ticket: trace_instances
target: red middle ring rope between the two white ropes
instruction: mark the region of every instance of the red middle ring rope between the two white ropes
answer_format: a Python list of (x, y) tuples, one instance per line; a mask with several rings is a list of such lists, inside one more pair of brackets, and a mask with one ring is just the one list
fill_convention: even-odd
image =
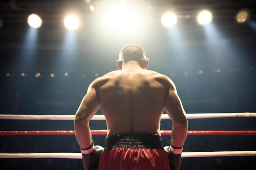
[[(91, 130), (92, 135), (107, 135), (107, 130)], [(161, 135), (170, 135), (171, 130), (161, 130)], [(74, 130), (0, 131), (1, 135), (74, 135)], [(256, 135), (256, 130), (190, 130), (187, 135)]]

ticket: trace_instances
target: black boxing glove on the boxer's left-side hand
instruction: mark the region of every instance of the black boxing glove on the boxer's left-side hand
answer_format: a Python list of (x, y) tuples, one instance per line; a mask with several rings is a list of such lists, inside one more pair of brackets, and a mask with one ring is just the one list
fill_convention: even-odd
[(90, 152), (89, 154), (82, 153), (83, 168), (85, 168), (85, 170), (98, 170), (99, 159), (101, 157), (101, 153), (103, 152), (103, 150), (103, 147), (96, 145), (94, 146), (92, 152)]

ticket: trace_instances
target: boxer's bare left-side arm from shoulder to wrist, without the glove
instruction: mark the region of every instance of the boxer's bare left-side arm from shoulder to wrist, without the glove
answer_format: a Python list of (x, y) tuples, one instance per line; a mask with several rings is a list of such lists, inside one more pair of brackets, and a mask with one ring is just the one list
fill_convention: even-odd
[(89, 148), (92, 144), (89, 121), (100, 107), (94, 82), (90, 84), (87, 94), (83, 97), (74, 119), (76, 140), (81, 148)]

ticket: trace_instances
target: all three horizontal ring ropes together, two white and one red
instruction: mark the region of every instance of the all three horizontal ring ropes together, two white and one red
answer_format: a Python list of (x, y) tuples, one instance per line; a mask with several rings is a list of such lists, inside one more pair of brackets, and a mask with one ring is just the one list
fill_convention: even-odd
[[(188, 119), (210, 119), (224, 117), (256, 117), (256, 113), (191, 113)], [(0, 115), (0, 119), (16, 120), (74, 120), (74, 115)], [(170, 119), (163, 114), (162, 119)], [(94, 115), (91, 120), (106, 120), (104, 115)], [(107, 130), (91, 130), (92, 135), (106, 135)], [(49, 131), (0, 131), (0, 135), (74, 135), (74, 130)], [(170, 135), (171, 130), (161, 130), (161, 135)], [(187, 135), (256, 135), (256, 130), (188, 130)], [(212, 152), (182, 152), (184, 157), (234, 157), (256, 156), (256, 150), (247, 151), (212, 151)], [(0, 153), (0, 158), (67, 158), (82, 159), (81, 153)]]

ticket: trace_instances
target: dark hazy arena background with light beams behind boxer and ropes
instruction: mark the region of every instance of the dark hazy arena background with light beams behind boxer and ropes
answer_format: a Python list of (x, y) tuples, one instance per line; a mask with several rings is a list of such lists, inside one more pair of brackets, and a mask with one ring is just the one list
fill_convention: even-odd
[[(210, 23), (197, 22), (201, 10), (212, 14)], [(174, 26), (164, 26), (166, 12), (176, 14)], [(30, 14), (41, 18), (40, 27), (29, 26)], [(70, 14), (78, 17), (77, 29), (64, 26)], [(1, 0), (0, 114), (74, 115), (89, 84), (117, 70), (127, 44), (144, 48), (148, 69), (173, 80), (186, 113), (256, 112), (255, 0)], [(106, 129), (106, 121), (90, 126)], [(161, 120), (161, 130), (171, 127), (171, 120)], [(0, 119), (0, 130), (74, 127), (72, 120)], [(256, 130), (256, 117), (189, 119), (189, 130)], [(105, 138), (93, 135), (94, 144), (103, 146)], [(170, 135), (162, 138), (167, 146)], [(183, 152), (245, 150), (256, 150), (255, 135), (188, 135)], [(74, 135), (0, 135), (0, 153), (50, 152), (80, 150)], [(189, 157), (182, 158), (180, 170), (256, 170), (255, 161)], [(1, 158), (0, 169), (83, 165), (81, 159)]]

